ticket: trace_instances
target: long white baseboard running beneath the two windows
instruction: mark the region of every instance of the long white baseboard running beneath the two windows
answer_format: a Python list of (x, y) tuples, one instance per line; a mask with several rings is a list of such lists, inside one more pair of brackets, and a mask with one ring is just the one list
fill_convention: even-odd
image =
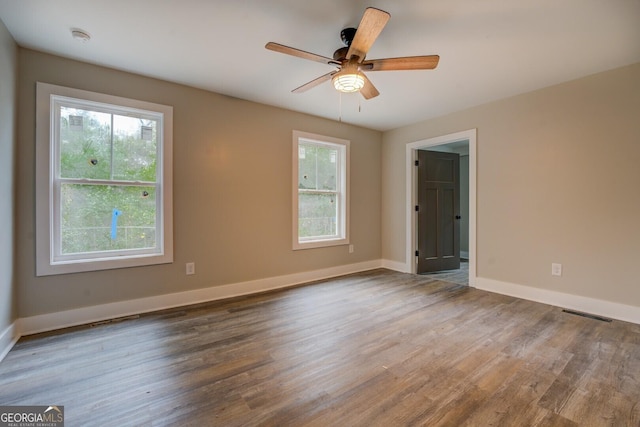
[(366, 261), (357, 264), (348, 264), (321, 270), (270, 277), (267, 279), (212, 286), (192, 291), (157, 295), (148, 298), (139, 298), (91, 307), (82, 307), (56, 313), (41, 314), (19, 319), (19, 334), (31, 335), (168, 308), (287, 288), (315, 280), (359, 273), (361, 271), (373, 270), (381, 267), (382, 262), (380, 260)]

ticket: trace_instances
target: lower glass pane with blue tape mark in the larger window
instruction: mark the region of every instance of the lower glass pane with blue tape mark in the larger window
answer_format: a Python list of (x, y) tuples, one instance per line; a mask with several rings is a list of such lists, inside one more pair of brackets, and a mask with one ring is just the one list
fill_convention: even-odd
[(62, 255), (154, 248), (155, 230), (155, 187), (62, 185)]

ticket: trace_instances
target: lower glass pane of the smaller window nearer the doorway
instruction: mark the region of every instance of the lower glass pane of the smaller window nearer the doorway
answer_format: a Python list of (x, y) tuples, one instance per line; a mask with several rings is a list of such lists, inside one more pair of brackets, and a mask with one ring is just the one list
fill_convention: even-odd
[(298, 196), (298, 238), (337, 237), (338, 202), (335, 194)]

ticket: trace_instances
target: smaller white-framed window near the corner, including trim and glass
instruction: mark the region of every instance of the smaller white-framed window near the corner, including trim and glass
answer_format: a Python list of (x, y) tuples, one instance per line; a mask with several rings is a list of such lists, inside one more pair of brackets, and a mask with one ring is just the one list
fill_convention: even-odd
[(293, 132), (293, 248), (349, 243), (349, 141)]

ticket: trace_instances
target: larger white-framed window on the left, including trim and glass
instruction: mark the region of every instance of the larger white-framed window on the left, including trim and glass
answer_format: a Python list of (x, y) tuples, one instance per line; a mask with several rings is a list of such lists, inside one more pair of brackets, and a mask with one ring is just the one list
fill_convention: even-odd
[(172, 108), (38, 83), (37, 110), (37, 274), (172, 262)]

